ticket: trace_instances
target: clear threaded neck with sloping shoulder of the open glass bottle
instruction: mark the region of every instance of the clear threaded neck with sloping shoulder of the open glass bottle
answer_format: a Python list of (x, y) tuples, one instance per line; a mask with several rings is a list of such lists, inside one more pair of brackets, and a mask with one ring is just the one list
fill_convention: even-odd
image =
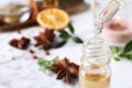
[(92, 37), (84, 44), (81, 66), (89, 69), (100, 69), (109, 66), (110, 48), (100, 37)]

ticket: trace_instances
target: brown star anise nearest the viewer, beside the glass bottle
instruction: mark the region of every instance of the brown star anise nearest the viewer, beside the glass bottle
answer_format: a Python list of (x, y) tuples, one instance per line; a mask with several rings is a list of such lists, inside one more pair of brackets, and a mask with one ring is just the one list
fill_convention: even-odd
[(67, 57), (63, 61), (56, 61), (50, 69), (57, 74), (57, 79), (64, 78), (67, 84), (72, 82), (72, 78), (78, 78), (79, 66), (70, 63)]

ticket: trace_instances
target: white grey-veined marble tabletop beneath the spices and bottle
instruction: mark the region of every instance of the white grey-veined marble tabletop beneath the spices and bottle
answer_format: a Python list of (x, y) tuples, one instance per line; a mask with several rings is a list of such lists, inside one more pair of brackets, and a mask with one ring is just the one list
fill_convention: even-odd
[[(86, 0), (86, 3), (89, 0)], [(72, 22), (76, 28), (76, 34), (81, 36), (84, 41), (92, 36), (92, 19), (90, 11), (72, 15)], [(32, 38), (37, 35), (43, 28), (35, 26), (16, 32), (0, 33), (0, 88), (79, 88), (79, 84), (66, 85), (55, 79), (55, 75), (48, 76), (38, 69), (37, 59), (32, 59), (29, 51), (21, 51), (9, 45), (9, 41), (13, 37), (26, 36)], [(33, 38), (32, 38), (33, 40)], [(32, 41), (34, 43), (34, 41)], [(34, 48), (35, 54), (40, 57), (51, 59), (59, 55), (68, 56), (73, 62), (79, 64), (81, 56), (81, 45), (72, 41), (66, 46), (52, 50), (50, 56), (45, 56), (43, 51)], [(12, 61), (15, 57), (15, 61)], [(112, 77), (111, 88), (132, 88), (132, 62), (111, 59)]]

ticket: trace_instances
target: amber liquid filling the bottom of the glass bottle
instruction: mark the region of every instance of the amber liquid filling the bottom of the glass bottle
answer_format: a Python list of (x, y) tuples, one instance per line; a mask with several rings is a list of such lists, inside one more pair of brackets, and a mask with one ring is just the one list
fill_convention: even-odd
[(110, 88), (110, 76), (106, 74), (79, 74), (80, 88)]

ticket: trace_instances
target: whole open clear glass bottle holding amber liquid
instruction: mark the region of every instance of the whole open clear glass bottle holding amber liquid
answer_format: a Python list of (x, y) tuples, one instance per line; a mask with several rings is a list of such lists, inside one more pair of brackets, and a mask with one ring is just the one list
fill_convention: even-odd
[(80, 59), (80, 88), (110, 88), (110, 48), (100, 37), (92, 37), (84, 44)]

